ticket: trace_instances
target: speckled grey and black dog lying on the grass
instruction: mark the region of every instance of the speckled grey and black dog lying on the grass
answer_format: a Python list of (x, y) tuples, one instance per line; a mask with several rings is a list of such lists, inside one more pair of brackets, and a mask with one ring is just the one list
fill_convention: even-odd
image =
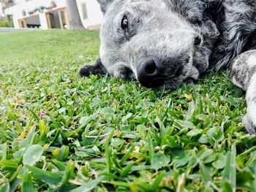
[[(256, 0), (97, 1), (104, 15), (100, 58), (80, 68), (82, 77), (108, 73), (173, 89), (256, 49)], [(245, 119), (255, 133), (255, 115)]]

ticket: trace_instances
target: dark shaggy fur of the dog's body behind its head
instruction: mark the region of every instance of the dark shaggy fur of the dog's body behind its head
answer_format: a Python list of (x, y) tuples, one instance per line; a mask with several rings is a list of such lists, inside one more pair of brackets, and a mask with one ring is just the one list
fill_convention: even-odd
[(225, 69), (236, 56), (256, 48), (256, 1), (225, 0), (222, 36), (211, 57), (210, 69)]

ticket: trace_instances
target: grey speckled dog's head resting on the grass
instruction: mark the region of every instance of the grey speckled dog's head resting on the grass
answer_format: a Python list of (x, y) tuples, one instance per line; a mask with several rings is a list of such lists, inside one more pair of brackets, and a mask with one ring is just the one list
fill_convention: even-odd
[[(96, 65), (83, 66), (82, 76), (108, 72), (114, 77), (136, 78), (146, 87), (176, 88), (181, 81), (197, 79), (198, 68), (207, 69), (209, 46), (217, 39), (217, 29), (211, 25), (209, 33), (200, 18), (189, 22), (189, 14), (192, 19), (203, 17), (199, 11), (182, 10), (191, 9), (191, 5), (179, 7), (178, 12), (178, 5), (165, 0), (98, 1), (104, 14), (101, 60)], [(200, 9), (196, 6), (196, 10)]]

